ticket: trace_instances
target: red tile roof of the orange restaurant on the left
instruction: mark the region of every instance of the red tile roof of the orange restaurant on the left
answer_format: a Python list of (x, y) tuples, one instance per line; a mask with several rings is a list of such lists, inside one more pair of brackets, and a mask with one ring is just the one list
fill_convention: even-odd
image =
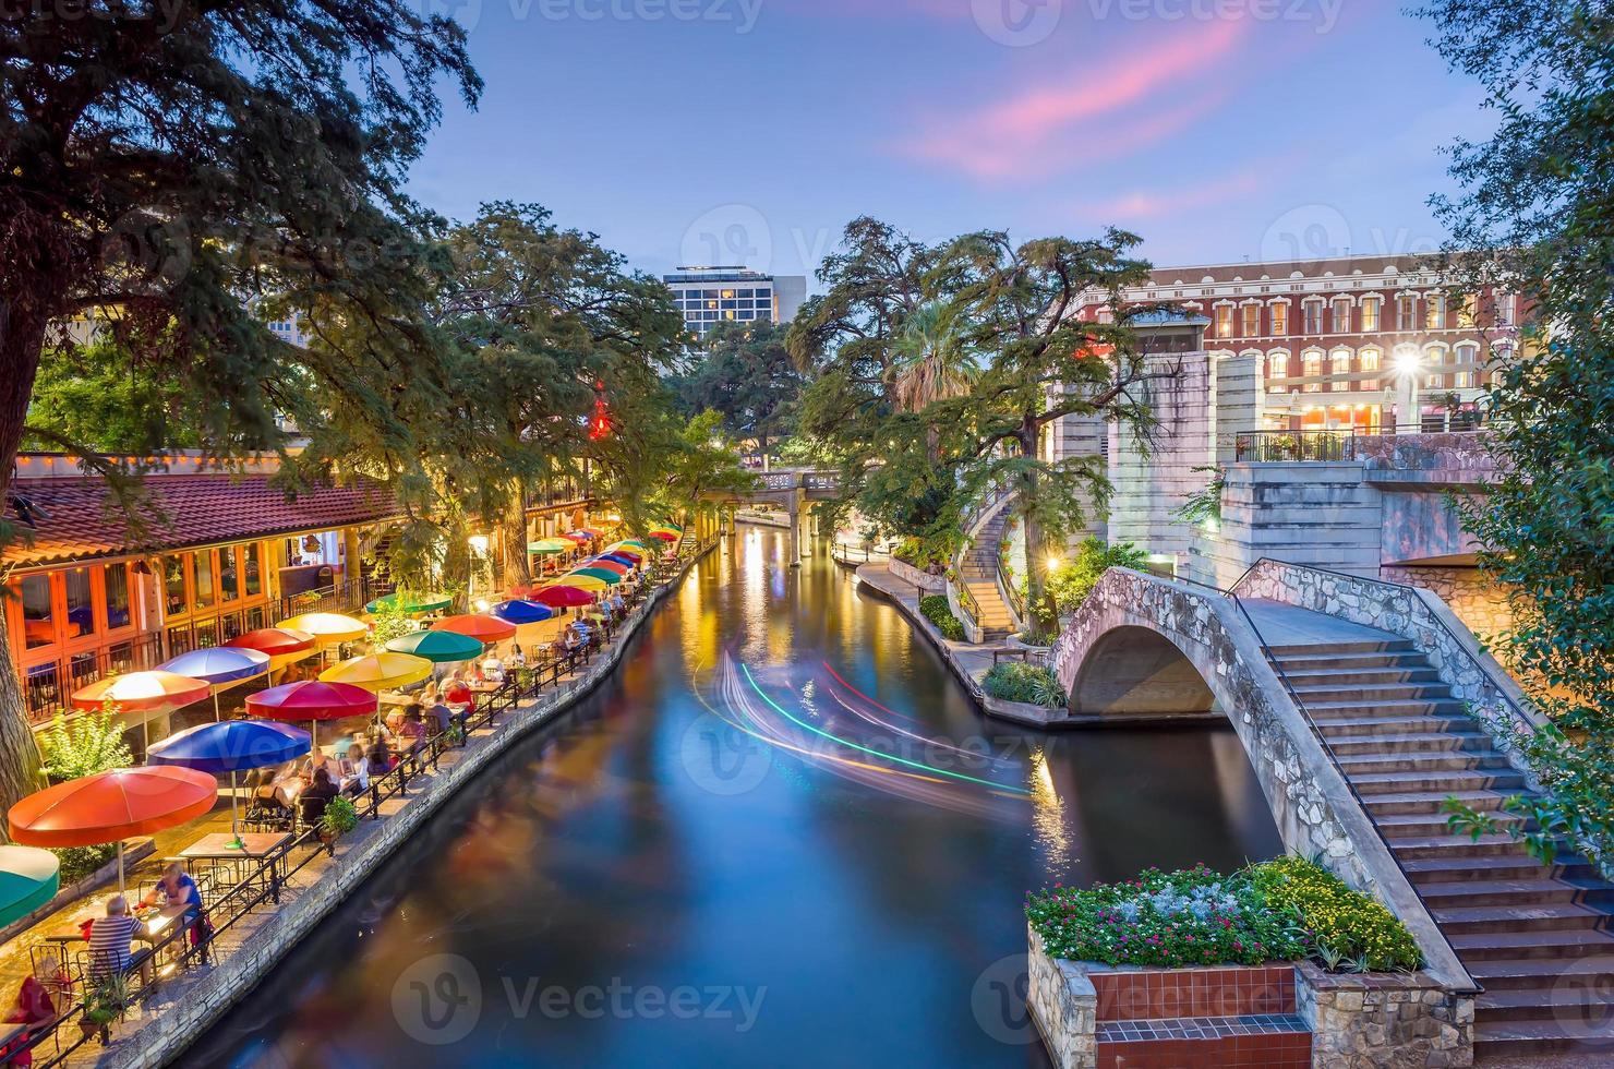
[(15, 567), (320, 531), (400, 515), (392, 496), (376, 483), (324, 486), (289, 499), (263, 473), (147, 476), (137, 505), (147, 526), (136, 533), (98, 478), (18, 480), (11, 493), (44, 512), (29, 528), (6, 501), (3, 517), (15, 531), (0, 560)]

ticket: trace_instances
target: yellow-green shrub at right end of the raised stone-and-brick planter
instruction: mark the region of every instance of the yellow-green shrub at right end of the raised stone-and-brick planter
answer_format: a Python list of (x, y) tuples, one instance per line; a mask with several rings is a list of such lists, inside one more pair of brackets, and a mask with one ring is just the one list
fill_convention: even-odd
[(1291, 912), (1312, 933), (1319, 953), (1359, 962), (1364, 970), (1411, 970), (1424, 956), (1406, 925), (1374, 898), (1304, 857), (1278, 857), (1252, 870), (1273, 909)]

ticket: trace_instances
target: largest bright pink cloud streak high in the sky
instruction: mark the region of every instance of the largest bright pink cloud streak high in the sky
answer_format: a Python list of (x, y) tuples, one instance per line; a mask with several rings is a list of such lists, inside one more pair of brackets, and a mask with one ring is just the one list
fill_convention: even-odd
[[(1206, 113), (1225, 92), (1198, 82), (1223, 61), (1246, 34), (1246, 19), (1194, 26), (1193, 32), (1157, 37), (1115, 60), (1056, 84), (1022, 89), (949, 119), (936, 119), (899, 147), (905, 155), (955, 168), (980, 179), (1046, 176), (1091, 158), (1115, 155), (1160, 140)], [(1193, 102), (1167, 111), (1144, 105), (1193, 89)], [(1080, 142), (1081, 149), (1072, 149)]]

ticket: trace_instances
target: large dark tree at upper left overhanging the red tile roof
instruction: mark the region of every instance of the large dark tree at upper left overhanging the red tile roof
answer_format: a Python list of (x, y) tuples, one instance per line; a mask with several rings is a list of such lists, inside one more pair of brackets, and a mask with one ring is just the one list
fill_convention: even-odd
[[(208, 452), (281, 447), (281, 413), (321, 444), (362, 425), (412, 451), (452, 381), (402, 194), (439, 86), (475, 103), (465, 36), (397, 0), (60, 0), (0, 19), (0, 491), (40, 354), (84, 318), (205, 402)], [(315, 344), (260, 318), (287, 312)], [(366, 344), (342, 344), (360, 321)], [(0, 806), (34, 769), (0, 633)]]

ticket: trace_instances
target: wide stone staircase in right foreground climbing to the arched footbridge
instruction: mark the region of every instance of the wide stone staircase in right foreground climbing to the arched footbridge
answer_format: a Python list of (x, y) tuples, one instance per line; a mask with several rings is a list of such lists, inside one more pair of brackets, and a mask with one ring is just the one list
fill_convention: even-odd
[(1257, 623), (1430, 916), (1485, 988), (1475, 1058), (1614, 1059), (1614, 885), (1567, 846), (1541, 866), (1507, 835), (1451, 833), (1440, 811), (1448, 796), (1517, 824), (1499, 807), (1528, 793), (1524, 777), (1411, 641), (1341, 625), (1349, 630), (1336, 641), (1290, 641), (1282, 623)]

